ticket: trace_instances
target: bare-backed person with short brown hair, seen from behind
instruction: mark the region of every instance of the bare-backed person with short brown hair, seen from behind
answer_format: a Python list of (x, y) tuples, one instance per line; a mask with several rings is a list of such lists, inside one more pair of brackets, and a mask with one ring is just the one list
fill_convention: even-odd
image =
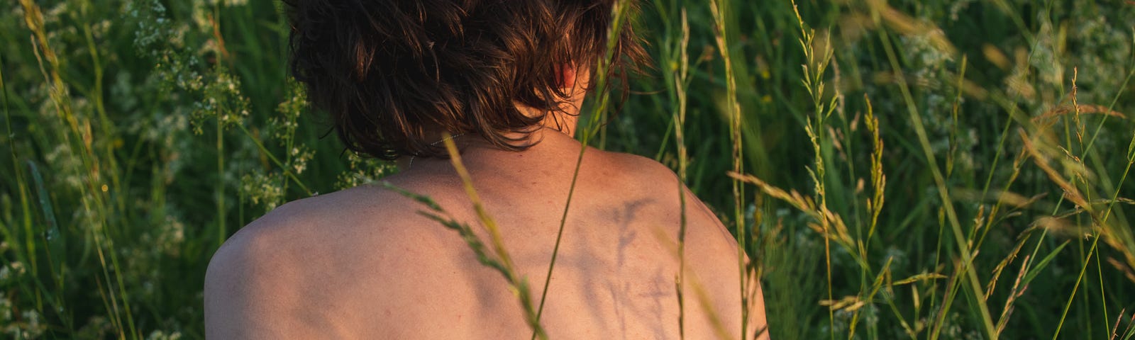
[[(350, 150), (398, 160), (390, 185), (431, 197), (487, 239), (442, 144), (454, 143), (538, 303), (582, 147), (575, 117), (592, 90), (590, 66), (608, 52), (612, 2), (293, 0), (292, 71)], [(614, 75), (644, 56), (624, 27), (611, 51)], [(741, 335), (735, 241), (669, 168), (588, 148), (578, 178), (540, 313), (549, 338)], [(680, 195), (684, 307), (674, 283)], [(531, 337), (501, 273), (421, 210), (362, 186), (252, 222), (210, 262), (207, 335)], [(764, 333), (751, 282), (746, 338)]]

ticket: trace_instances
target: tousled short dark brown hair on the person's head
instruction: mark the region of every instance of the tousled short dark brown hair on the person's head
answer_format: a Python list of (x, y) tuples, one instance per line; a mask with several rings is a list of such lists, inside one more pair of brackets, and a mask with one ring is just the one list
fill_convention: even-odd
[[(606, 54), (616, 0), (284, 1), (292, 75), (348, 150), (393, 160), (443, 155), (431, 130), (527, 148), (519, 142), (570, 95), (560, 68), (582, 74)], [(645, 60), (630, 26), (611, 51), (612, 75)]]

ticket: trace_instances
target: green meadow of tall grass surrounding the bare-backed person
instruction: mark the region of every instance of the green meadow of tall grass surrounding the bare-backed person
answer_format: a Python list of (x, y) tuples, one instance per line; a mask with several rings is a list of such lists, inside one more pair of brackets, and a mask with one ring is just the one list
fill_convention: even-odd
[[(1135, 337), (1135, 3), (640, 2), (654, 63), (581, 130), (718, 214), (774, 339)], [(228, 236), (397, 171), (278, 1), (0, 6), (0, 338), (203, 338)]]

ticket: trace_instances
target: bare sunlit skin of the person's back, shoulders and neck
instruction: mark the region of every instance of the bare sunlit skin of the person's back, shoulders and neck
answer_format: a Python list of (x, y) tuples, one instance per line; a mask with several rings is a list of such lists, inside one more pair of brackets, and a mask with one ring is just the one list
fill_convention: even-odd
[[(565, 112), (553, 113), (561, 114), (558, 129), (548, 117), (532, 136), (539, 143), (527, 151), (503, 151), (476, 135), (453, 139), (536, 304), (582, 147), (572, 135), (585, 96), (585, 86), (575, 85), (586, 84), (573, 83), (564, 84), (580, 88), (563, 104)], [(432, 197), (488, 239), (448, 160), (418, 158), (407, 168), (404, 158), (400, 164), (402, 171), (385, 180)], [(540, 321), (550, 339), (679, 338), (679, 193), (688, 223), (686, 338), (740, 338), (735, 240), (673, 171), (589, 147), (574, 190)], [(420, 210), (371, 185), (295, 201), (250, 223), (209, 264), (207, 337), (529, 339), (504, 278), (478, 263), (456, 231)], [(759, 287), (750, 282), (747, 338), (765, 325)]]

